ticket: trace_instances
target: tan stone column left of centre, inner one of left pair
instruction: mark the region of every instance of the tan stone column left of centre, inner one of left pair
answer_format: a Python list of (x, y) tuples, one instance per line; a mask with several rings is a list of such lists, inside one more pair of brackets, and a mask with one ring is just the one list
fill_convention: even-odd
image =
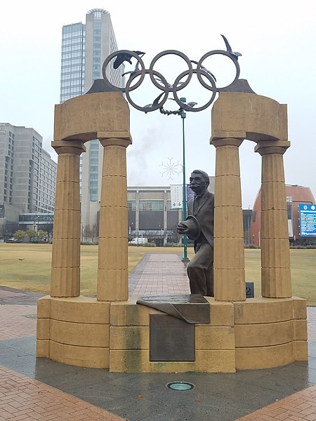
[(129, 298), (126, 147), (129, 138), (100, 139), (103, 174), (100, 203), (97, 300)]

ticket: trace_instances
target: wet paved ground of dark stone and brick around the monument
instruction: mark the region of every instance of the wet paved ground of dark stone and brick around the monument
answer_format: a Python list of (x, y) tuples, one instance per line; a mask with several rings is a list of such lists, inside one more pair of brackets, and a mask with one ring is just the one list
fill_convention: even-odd
[[(145, 255), (130, 293), (187, 293), (178, 255)], [(237, 373), (109, 373), (36, 358), (41, 295), (0, 286), (0, 421), (316, 420), (316, 308), (308, 362)], [(187, 391), (169, 382), (190, 382)]]

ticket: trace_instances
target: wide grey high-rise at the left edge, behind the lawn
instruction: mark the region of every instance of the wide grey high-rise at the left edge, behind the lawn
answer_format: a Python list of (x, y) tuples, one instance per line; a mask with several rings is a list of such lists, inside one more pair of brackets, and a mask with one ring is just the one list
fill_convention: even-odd
[(20, 213), (52, 213), (57, 163), (34, 128), (0, 123), (0, 205), (7, 223)]

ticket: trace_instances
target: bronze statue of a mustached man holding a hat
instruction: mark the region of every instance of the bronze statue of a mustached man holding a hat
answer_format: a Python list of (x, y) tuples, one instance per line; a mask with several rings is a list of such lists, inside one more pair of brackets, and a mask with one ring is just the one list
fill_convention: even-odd
[(178, 224), (177, 231), (195, 240), (195, 255), (187, 265), (191, 293), (213, 297), (214, 194), (208, 187), (209, 175), (194, 170), (190, 188), (195, 196), (187, 202), (187, 220)]

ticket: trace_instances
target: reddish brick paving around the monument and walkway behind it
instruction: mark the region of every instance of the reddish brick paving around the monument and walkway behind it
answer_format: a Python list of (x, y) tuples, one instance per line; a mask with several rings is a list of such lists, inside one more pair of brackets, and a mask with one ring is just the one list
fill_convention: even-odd
[[(145, 255), (130, 277), (129, 289), (130, 294), (137, 295), (189, 293), (185, 267), (180, 257)], [(36, 300), (39, 297), (39, 294), (0, 287), (0, 341), (36, 335)], [(308, 338), (310, 343), (316, 342), (316, 307), (308, 307)], [(0, 421), (4, 420), (119, 421), (126, 418), (0, 366)], [(315, 421), (316, 385), (237, 420)]]

